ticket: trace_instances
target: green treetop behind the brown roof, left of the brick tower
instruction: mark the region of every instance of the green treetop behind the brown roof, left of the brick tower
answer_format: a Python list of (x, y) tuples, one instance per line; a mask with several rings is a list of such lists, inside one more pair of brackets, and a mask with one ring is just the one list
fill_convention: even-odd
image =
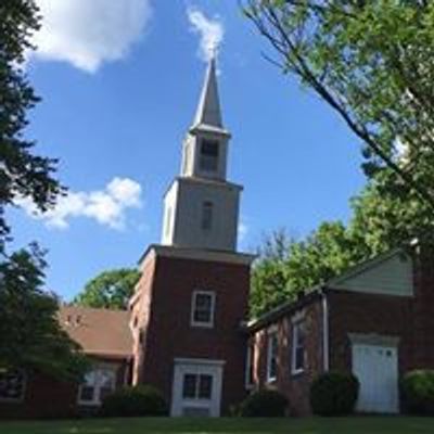
[(90, 280), (73, 303), (97, 308), (125, 309), (140, 279), (136, 269), (103, 271)]

